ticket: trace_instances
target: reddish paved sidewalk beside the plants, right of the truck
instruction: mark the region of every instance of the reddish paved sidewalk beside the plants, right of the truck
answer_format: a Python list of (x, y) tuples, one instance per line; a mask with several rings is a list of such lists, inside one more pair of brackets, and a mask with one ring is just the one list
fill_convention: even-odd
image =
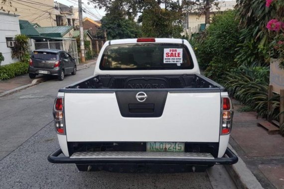
[(256, 112), (239, 112), (234, 100), (230, 144), (265, 189), (284, 189), (284, 137), (257, 126)]

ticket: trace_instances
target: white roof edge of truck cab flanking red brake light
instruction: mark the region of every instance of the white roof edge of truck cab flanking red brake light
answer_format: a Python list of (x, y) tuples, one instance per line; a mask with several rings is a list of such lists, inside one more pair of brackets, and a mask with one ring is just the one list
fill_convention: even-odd
[(109, 45), (115, 44), (126, 44), (126, 43), (182, 43), (182, 39), (173, 39), (173, 38), (155, 38), (155, 42), (137, 42), (136, 39), (115, 39), (107, 41)]

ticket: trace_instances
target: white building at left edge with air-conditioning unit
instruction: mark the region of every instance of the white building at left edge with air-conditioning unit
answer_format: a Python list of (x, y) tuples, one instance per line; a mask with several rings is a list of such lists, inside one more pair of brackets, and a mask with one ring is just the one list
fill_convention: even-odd
[(20, 34), (18, 15), (0, 12), (0, 52), (5, 59), (1, 62), (1, 66), (18, 61), (11, 57), (11, 48), (15, 44), (14, 37), (18, 34)]

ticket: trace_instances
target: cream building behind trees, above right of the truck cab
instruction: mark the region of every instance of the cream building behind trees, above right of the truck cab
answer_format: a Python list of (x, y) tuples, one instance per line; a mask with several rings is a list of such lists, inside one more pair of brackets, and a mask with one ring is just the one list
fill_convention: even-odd
[[(210, 18), (215, 14), (222, 13), (228, 9), (234, 9), (236, 0), (231, 1), (220, 1), (219, 6), (213, 6), (210, 10)], [(200, 30), (205, 29), (205, 14), (200, 12), (187, 11), (183, 22), (184, 32), (187, 33), (198, 33)]]

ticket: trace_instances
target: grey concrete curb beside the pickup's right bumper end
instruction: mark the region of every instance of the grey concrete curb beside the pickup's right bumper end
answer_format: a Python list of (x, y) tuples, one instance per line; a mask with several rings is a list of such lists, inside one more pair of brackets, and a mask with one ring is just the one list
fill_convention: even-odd
[(238, 156), (239, 161), (234, 165), (225, 165), (227, 172), (234, 180), (238, 189), (263, 189), (260, 182), (249, 170), (245, 162), (241, 159), (238, 153), (229, 144), (228, 147)]

